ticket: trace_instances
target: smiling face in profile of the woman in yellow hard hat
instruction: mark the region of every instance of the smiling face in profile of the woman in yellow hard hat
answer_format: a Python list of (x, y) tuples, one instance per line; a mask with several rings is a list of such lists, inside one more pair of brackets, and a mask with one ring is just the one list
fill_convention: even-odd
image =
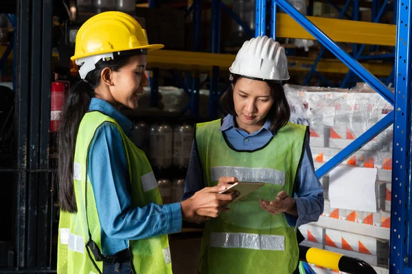
[(119, 71), (113, 71), (113, 86), (110, 90), (117, 104), (130, 109), (137, 108), (143, 88), (149, 85), (145, 71), (146, 55), (144, 54), (130, 57), (128, 64), (122, 66)]

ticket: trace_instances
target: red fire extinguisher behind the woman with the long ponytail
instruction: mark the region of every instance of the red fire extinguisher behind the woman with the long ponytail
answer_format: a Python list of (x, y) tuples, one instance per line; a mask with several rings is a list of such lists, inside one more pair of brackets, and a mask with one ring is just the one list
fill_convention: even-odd
[(50, 112), (50, 132), (57, 132), (60, 114), (65, 104), (66, 94), (69, 90), (68, 81), (52, 82), (52, 102)]

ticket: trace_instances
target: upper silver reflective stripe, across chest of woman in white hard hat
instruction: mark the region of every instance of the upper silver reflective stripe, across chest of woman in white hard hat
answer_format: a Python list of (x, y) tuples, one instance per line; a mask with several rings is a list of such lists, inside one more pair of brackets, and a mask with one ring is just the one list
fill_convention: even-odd
[(214, 166), (211, 168), (211, 181), (220, 177), (236, 177), (240, 182), (262, 182), (284, 186), (286, 173), (276, 169), (251, 169), (242, 166)]

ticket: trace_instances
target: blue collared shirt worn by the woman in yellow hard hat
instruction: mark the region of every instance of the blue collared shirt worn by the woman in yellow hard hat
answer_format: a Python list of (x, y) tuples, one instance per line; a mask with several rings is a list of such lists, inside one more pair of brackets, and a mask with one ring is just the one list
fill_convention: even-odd
[[(102, 99), (92, 98), (89, 112), (110, 116), (130, 135), (132, 123)], [(130, 177), (122, 136), (113, 123), (102, 123), (95, 132), (87, 169), (102, 228), (102, 253), (114, 255), (128, 248), (128, 240), (151, 238), (181, 230), (180, 203), (135, 208), (130, 197)], [(139, 166), (135, 166), (139, 169)]]

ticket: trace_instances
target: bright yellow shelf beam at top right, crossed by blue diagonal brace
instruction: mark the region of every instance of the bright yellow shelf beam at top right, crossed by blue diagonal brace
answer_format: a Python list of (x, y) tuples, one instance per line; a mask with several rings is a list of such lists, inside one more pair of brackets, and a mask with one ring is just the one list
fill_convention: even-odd
[[(396, 25), (306, 16), (335, 42), (395, 47)], [(284, 38), (315, 40), (288, 14), (277, 13), (276, 35)]]

